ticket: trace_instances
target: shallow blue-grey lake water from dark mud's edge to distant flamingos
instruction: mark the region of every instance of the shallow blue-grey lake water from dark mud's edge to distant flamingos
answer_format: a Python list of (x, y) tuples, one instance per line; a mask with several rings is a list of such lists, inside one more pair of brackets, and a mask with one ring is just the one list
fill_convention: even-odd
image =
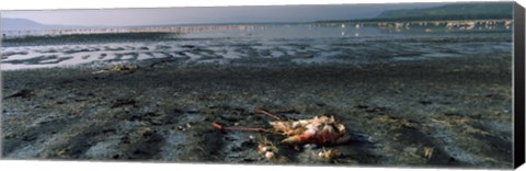
[(41, 37), (36, 42), (7, 41), (2, 48), (1, 69), (71, 67), (152, 58), (218, 64), (359, 65), (510, 53), (512, 31), (502, 25), (490, 29), (270, 24), (165, 34), (155, 39), (127, 39), (126, 34), (118, 39), (98, 41), (65, 36), (46, 42)]

